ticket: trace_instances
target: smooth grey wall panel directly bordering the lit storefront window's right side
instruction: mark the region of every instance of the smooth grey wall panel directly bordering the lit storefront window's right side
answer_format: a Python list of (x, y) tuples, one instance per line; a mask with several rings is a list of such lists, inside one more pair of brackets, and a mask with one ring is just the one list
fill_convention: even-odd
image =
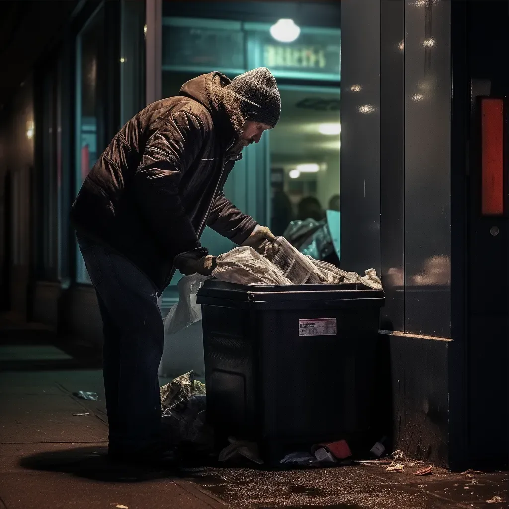
[(341, 265), (380, 273), (380, 4), (341, 5)]

